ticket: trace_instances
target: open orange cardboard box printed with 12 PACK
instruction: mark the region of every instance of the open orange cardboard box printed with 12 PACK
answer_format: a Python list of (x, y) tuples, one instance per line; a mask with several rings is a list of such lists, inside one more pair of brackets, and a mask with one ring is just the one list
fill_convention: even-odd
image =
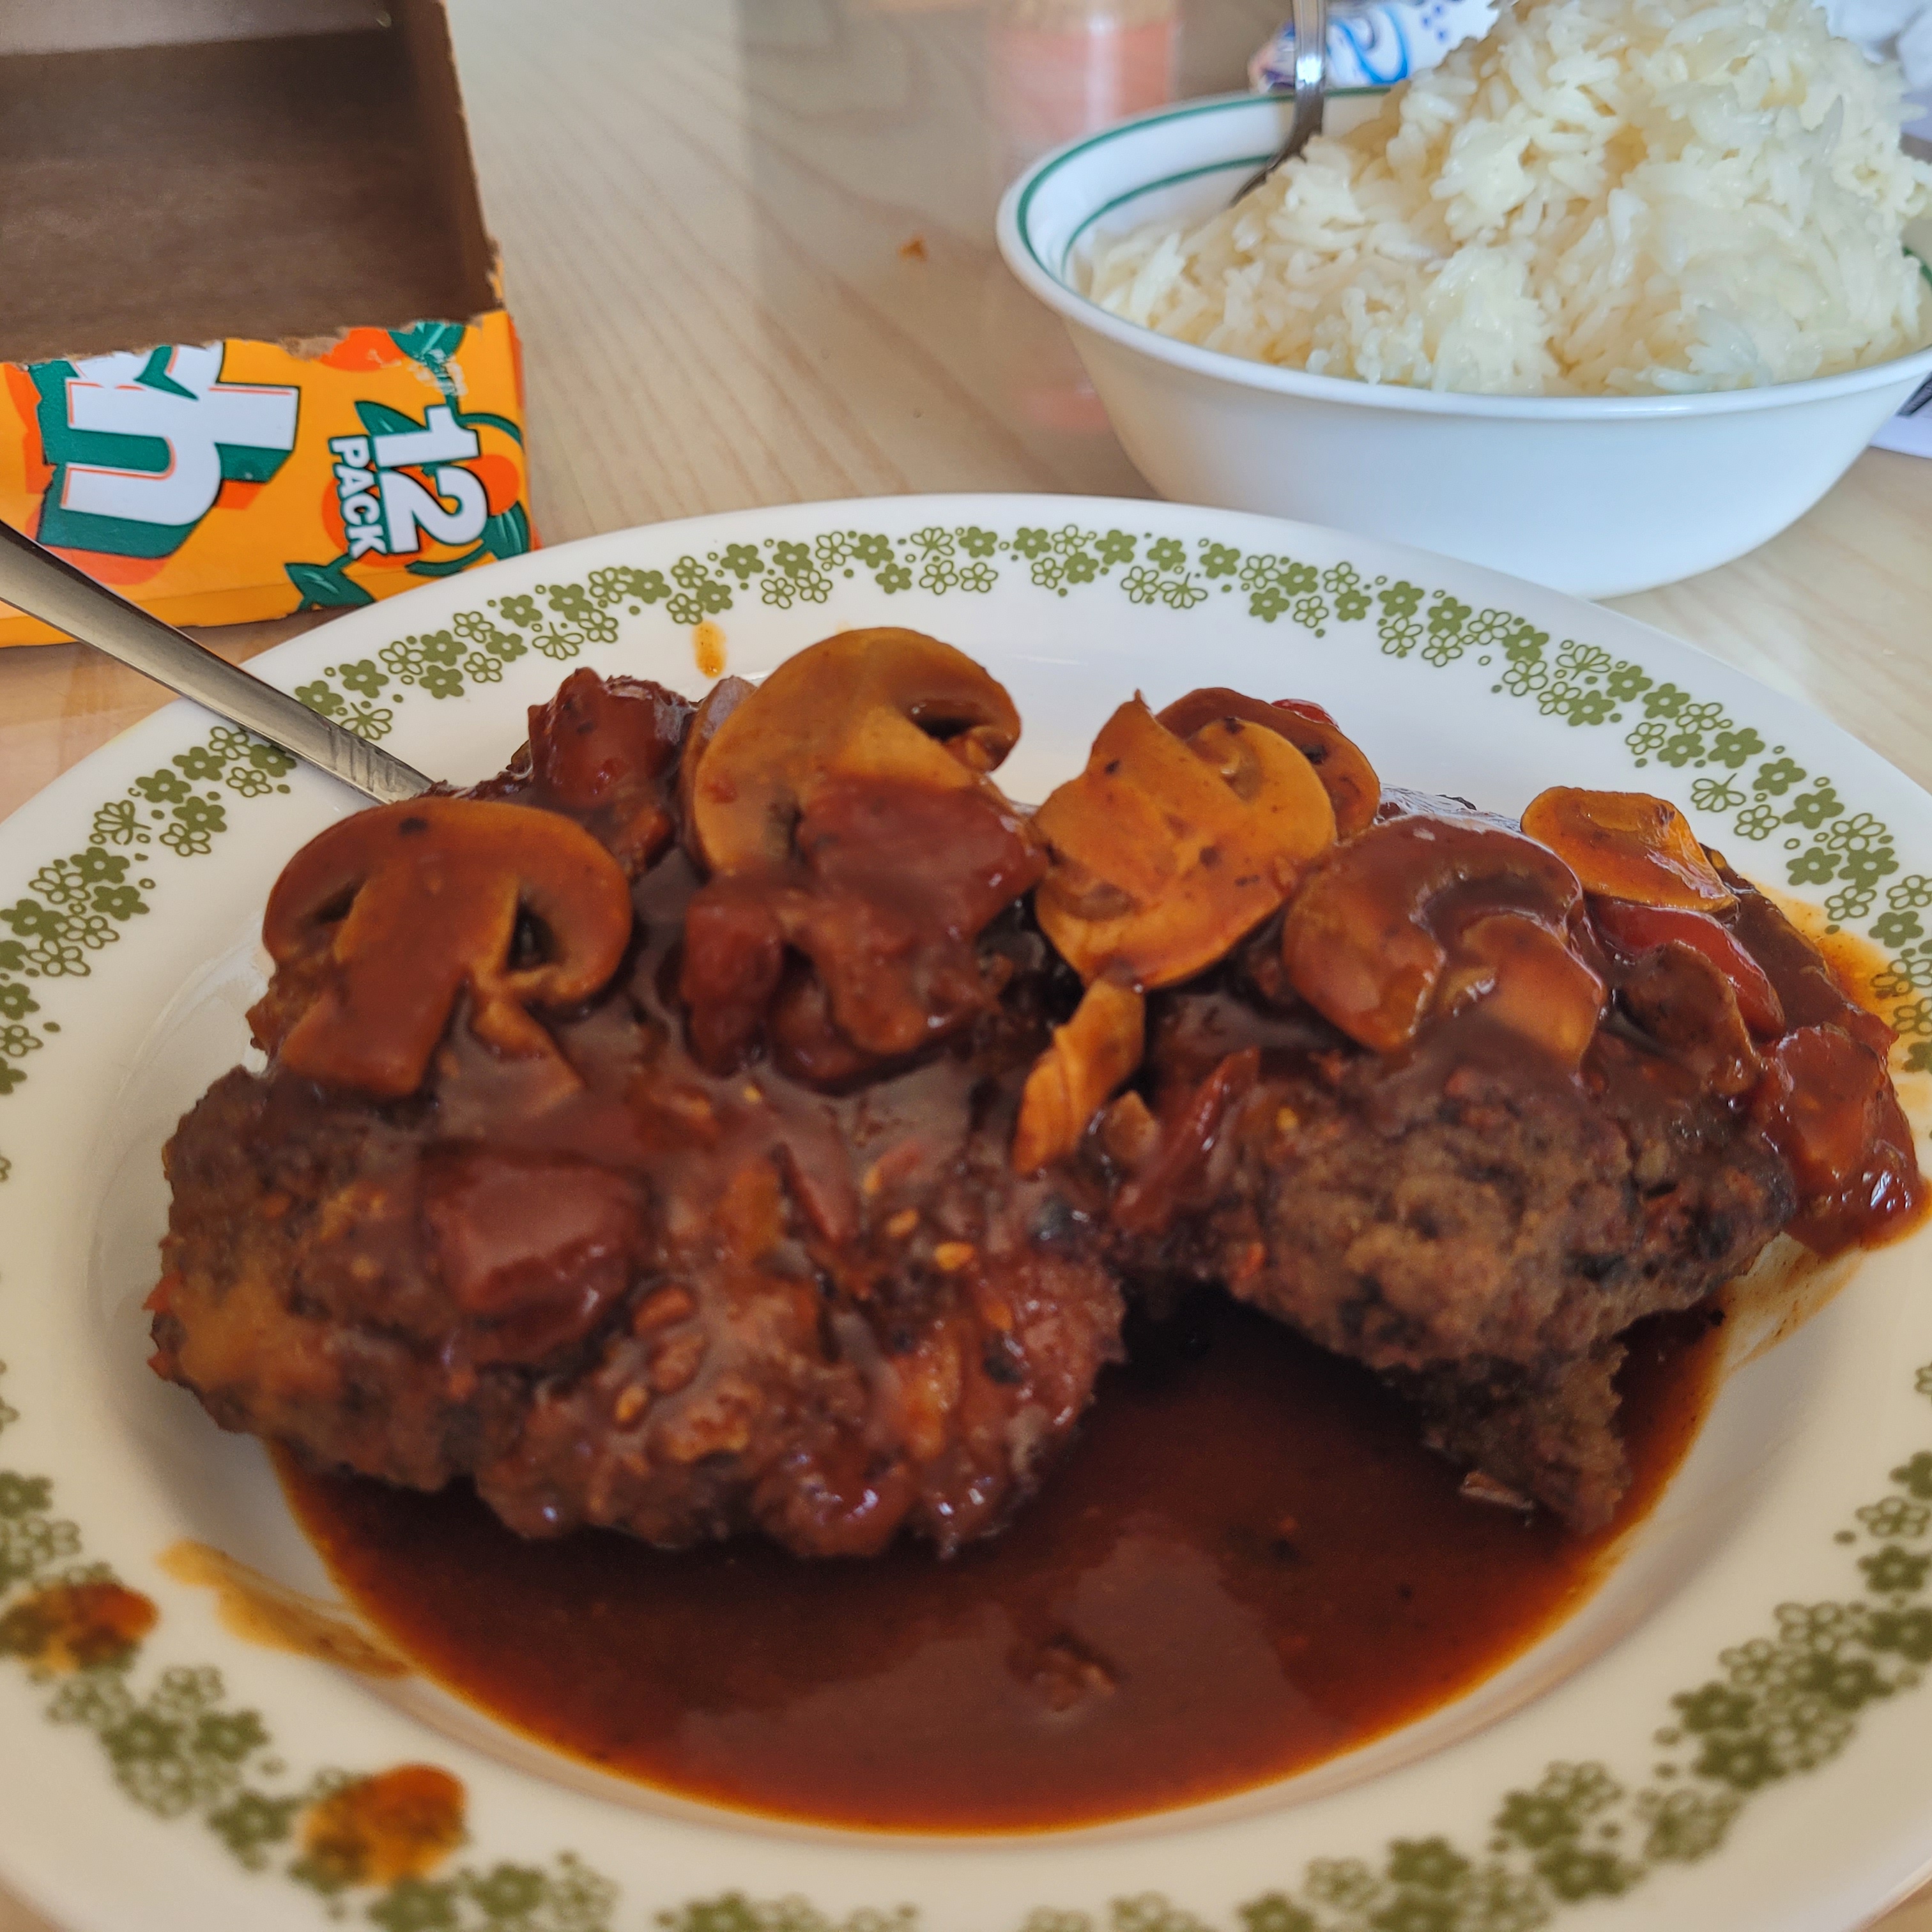
[(0, 0), (0, 520), (174, 624), (535, 545), (440, 0)]

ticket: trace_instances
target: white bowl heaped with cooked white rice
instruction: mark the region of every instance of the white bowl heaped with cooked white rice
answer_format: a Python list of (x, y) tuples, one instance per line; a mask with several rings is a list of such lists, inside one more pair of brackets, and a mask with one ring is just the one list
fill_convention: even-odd
[(1165, 497), (1584, 597), (1804, 514), (1932, 375), (1932, 168), (1812, 0), (1522, 0), (1236, 209), (1279, 97), (1184, 102), (1001, 203)]

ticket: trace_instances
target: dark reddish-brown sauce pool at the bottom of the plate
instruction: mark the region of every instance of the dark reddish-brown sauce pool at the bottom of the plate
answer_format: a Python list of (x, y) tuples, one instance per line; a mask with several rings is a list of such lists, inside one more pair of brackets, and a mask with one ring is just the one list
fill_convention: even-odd
[(833, 1826), (1095, 1824), (1306, 1770), (1569, 1615), (1708, 1405), (1706, 1314), (1631, 1335), (1598, 1536), (1459, 1493), (1366, 1372), (1219, 1298), (1130, 1323), (1070, 1453), (949, 1563), (583, 1530), (278, 1457), (361, 1611), (491, 1716), (682, 1797)]

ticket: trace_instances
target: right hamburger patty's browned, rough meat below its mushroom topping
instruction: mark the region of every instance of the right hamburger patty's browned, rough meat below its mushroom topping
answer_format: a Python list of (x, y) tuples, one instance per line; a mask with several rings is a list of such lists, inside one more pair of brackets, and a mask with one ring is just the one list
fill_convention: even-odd
[(1256, 1057), (1200, 1167), (1146, 1206), (1130, 1275), (1227, 1283), (1385, 1376), (1459, 1463), (1577, 1528), (1607, 1520), (1615, 1337), (1756, 1260), (1797, 1200), (1783, 1157), (1611, 1028), (1571, 1080), (1480, 1009), (1391, 1065), (1252, 987), (1169, 1001), (1159, 1084), (1198, 1088), (1235, 1041)]

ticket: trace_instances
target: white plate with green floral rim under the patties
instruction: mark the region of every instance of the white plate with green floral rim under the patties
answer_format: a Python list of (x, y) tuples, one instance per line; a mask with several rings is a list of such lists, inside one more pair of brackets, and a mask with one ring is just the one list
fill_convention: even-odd
[[(1553, 781), (1675, 798), (1770, 885), (1893, 954), (1922, 1130), (1932, 800), (1787, 697), (1553, 591), (1229, 512), (1072, 497), (806, 504), (516, 558), (257, 668), (469, 781), (570, 665), (750, 674), (850, 624), (1007, 680), (1039, 798), (1140, 686), (1329, 705), (1391, 782), (1519, 810)], [(1932, 1231), (1745, 1368), (1594, 1602), (1424, 1723), (1308, 1776), (1101, 1830), (908, 1839), (624, 1785), (419, 1679), (234, 1636), (162, 1549), (327, 1592), (259, 1445), (143, 1366), (156, 1155), (243, 1051), (255, 922), (350, 808), (174, 705), (0, 829), (0, 1619), (108, 1565), (160, 1621), (116, 1667), (0, 1656), (0, 1870), (79, 1932), (1839, 1932), (1932, 1861)], [(1849, 871), (1847, 871), (1849, 867)], [(15, 1652), (31, 1619), (0, 1621)], [(433, 1762), (468, 1843), (303, 1880), (317, 1774)]]

